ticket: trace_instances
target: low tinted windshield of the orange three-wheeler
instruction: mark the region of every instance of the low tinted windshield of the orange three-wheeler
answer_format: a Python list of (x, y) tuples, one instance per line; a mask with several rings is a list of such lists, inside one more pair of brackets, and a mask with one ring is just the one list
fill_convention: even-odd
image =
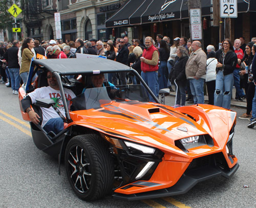
[(145, 88), (141, 85), (88, 88), (84, 93), (70, 100), (69, 110), (96, 109), (111, 101), (125, 102), (129, 100), (149, 101)]

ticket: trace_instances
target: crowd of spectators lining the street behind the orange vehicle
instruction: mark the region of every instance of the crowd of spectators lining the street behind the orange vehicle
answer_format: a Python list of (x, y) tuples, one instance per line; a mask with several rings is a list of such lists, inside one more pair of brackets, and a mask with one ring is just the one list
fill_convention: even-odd
[[(0, 83), (18, 94), (20, 84), (27, 82), (33, 57), (67, 59), (76, 58), (77, 53), (105, 56), (134, 68), (156, 97), (163, 88), (175, 91), (175, 108), (184, 106), (185, 102), (204, 103), (207, 94), (209, 105), (230, 109), (235, 87), (234, 99), (247, 101), (246, 113), (239, 118), (250, 119), (248, 127), (253, 127), (256, 124), (255, 42), (256, 38), (247, 44), (244, 37), (234, 42), (225, 39), (218, 50), (208, 45), (204, 51), (199, 41), (186, 37), (170, 40), (161, 34), (156, 36), (156, 41), (146, 37), (145, 40), (134, 39), (132, 43), (128, 37), (116, 38), (115, 42), (94, 38), (87, 41), (77, 38), (65, 43), (61, 40), (39, 42), (32, 38), (25, 38), (22, 43), (0, 41)], [(114, 85), (139, 84), (136, 76), (126, 72), (108, 74), (105, 79)], [(149, 97), (154, 101), (151, 95)]]

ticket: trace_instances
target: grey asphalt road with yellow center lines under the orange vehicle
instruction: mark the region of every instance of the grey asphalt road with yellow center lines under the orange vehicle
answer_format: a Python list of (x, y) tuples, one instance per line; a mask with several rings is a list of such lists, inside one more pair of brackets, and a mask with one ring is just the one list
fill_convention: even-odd
[[(247, 120), (237, 120), (233, 153), (240, 168), (231, 179), (209, 179), (174, 197), (86, 202), (73, 193), (64, 166), (58, 175), (57, 160), (35, 147), (28, 123), (22, 122), (18, 96), (0, 85), (0, 99), (0, 207), (256, 207), (256, 127), (247, 128)], [(174, 99), (168, 96), (166, 104), (173, 105)]]

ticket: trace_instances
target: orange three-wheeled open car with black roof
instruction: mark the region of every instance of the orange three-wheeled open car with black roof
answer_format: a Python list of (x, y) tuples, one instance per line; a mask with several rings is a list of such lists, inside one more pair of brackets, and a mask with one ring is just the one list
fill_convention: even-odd
[[(41, 71), (37, 87), (47, 86), (46, 71), (51, 71), (65, 109), (60, 115), (64, 129), (57, 135), (30, 122), (33, 141), (38, 149), (65, 161), (69, 183), (81, 199), (183, 194), (202, 180), (229, 178), (239, 167), (232, 152), (235, 112), (210, 105), (176, 109), (163, 105), (134, 69), (111, 60), (32, 60), (31, 66), (19, 100), (34, 90), (31, 80), (36, 70)], [(88, 87), (93, 74), (106, 77), (117, 72), (133, 73), (141, 84)], [(73, 75), (81, 80), (70, 79)], [(63, 88), (76, 97), (67, 101)], [(148, 94), (156, 102), (149, 102)], [(54, 104), (40, 99), (32, 108), (40, 114), (41, 108)]]

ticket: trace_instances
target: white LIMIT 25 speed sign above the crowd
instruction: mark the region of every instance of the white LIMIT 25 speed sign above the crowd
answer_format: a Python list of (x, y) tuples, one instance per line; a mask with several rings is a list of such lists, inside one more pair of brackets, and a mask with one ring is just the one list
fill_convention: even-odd
[(236, 18), (238, 17), (237, 0), (220, 0), (221, 17)]

